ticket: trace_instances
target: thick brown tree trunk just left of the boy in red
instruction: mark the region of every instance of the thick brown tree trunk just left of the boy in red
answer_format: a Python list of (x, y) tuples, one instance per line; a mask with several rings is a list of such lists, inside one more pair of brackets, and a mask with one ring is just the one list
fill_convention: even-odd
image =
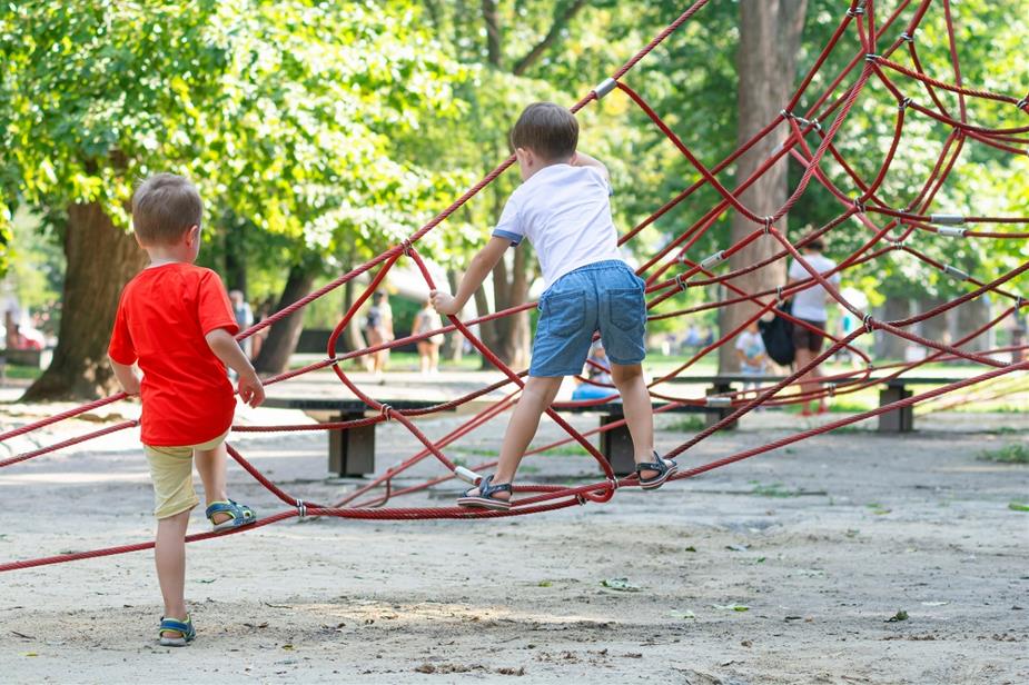
[(68, 208), (65, 289), (53, 361), (23, 401), (96, 399), (119, 390), (107, 360), (121, 289), (146, 264), (131, 234), (97, 202)]

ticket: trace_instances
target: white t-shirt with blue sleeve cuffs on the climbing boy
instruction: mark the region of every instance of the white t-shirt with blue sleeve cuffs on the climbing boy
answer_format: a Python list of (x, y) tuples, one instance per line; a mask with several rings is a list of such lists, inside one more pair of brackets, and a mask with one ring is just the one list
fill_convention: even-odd
[(580, 267), (621, 259), (611, 186), (593, 167), (544, 167), (507, 198), (493, 235), (536, 250), (544, 287)]

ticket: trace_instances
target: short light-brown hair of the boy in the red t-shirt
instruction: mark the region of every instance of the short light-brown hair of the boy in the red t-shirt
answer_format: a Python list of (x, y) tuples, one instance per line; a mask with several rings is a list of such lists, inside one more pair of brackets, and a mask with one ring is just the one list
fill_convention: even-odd
[(182, 176), (155, 173), (132, 195), (132, 228), (144, 245), (176, 242), (202, 215), (200, 193)]

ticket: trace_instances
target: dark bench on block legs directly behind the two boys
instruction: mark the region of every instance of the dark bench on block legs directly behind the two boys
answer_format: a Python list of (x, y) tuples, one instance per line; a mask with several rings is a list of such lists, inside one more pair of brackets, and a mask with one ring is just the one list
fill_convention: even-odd
[[(482, 406), (483, 400), (475, 401), (478, 403), (478, 406)], [(439, 403), (397, 399), (386, 400), (385, 404), (394, 409), (424, 409)], [(359, 399), (268, 397), (261, 406), (276, 409), (299, 409), (319, 423), (349, 421), (362, 419), (366, 416), (374, 416), (375, 414)], [(466, 407), (467, 405), (464, 406)], [(664, 403), (654, 404), (654, 408), (663, 406)], [(624, 418), (621, 403), (558, 409), (558, 411), (563, 414), (600, 414), (600, 425), (602, 427)], [(675, 407), (674, 409), (670, 409), (670, 411), (697, 413), (711, 411), (711, 409), (708, 407), (687, 405)], [(329, 430), (328, 470), (347, 478), (360, 478), (368, 474), (374, 474), (375, 427), (378, 424), (372, 424), (357, 428)], [(632, 437), (629, 434), (629, 428), (624, 424), (601, 433), (600, 451), (620, 476), (633, 471)]]

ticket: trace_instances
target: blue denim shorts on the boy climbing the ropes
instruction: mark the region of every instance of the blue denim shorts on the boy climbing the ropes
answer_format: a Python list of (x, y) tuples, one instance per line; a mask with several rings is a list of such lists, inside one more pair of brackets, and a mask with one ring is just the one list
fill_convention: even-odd
[(613, 259), (580, 267), (558, 278), (540, 298), (530, 376), (581, 374), (593, 334), (601, 331), (607, 358), (640, 364), (646, 356), (643, 279)]

